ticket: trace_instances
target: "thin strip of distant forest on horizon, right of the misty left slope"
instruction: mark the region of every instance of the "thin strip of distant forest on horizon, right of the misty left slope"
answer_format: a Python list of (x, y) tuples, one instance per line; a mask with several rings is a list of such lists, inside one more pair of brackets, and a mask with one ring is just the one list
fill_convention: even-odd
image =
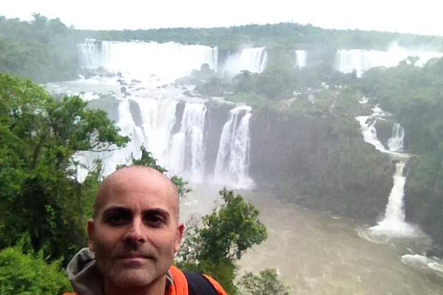
[(219, 48), (266, 46), (273, 48), (361, 48), (384, 50), (398, 42), (402, 46), (426, 44), (443, 49), (443, 37), (386, 33), (366, 30), (329, 30), (296, 23), (233, 26), (230, 28), (160, 28), (151, 30), (80, 30), (83, 37), (102, 40), (143, 40), (204, 44)]

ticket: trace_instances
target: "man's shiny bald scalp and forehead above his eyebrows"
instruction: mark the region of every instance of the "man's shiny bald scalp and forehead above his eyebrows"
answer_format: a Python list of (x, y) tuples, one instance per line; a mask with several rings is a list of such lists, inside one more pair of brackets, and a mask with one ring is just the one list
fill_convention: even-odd
[(130, 195), (129, 192), (152, 193), (170, 199), (172, 211), (179, 220), (179, 193), (177, 186), (163, 173), (146, 166), (128, 166), (105, 178), (94, 204), (94, 219), (107, 203), (109, 196)]

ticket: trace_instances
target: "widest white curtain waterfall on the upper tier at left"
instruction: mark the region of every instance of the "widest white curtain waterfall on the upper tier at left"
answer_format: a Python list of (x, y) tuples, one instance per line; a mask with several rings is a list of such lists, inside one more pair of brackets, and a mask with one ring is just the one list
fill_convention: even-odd
[(102, 66), (138, 80), (150, 80), (155, 75), (163, 83), (173, 82), (188, 75), (192, 69), (200, 69), (201, 64), (208, 64), (210, 69), (217, 71), (217, 47), (174, 42), (87, 40), (79, 48), (85, 66)]

